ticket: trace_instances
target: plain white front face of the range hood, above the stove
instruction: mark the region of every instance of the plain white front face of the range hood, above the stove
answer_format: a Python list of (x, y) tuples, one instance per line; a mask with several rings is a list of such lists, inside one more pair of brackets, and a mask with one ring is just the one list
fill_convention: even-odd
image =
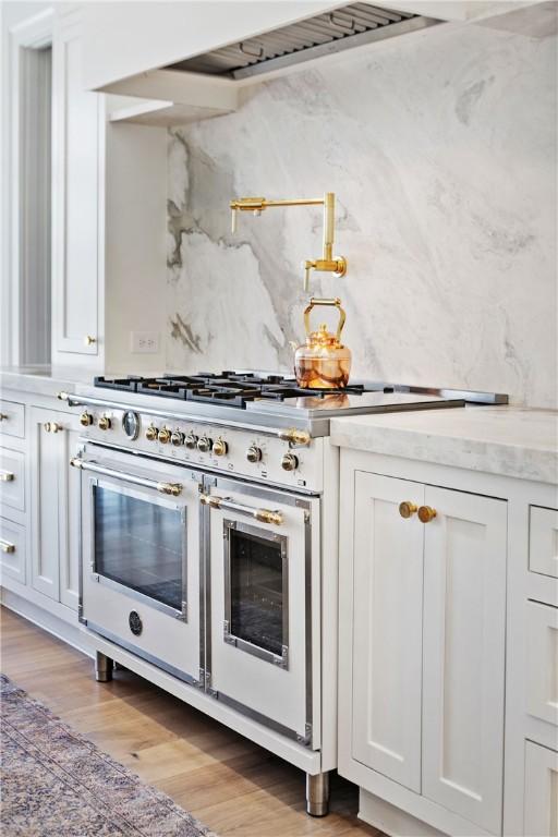
[(85, 87), (110, 89), (123, 78), (338, 5), (325, 0), (85, 3)]

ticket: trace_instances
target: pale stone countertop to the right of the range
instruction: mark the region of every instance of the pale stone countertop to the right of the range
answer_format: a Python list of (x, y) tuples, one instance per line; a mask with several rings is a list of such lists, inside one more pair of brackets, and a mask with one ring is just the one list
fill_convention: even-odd
[(465, 407), (356, 415), (331, 421), (345, 448), (522, 480), (558, 482), (558, 412)]

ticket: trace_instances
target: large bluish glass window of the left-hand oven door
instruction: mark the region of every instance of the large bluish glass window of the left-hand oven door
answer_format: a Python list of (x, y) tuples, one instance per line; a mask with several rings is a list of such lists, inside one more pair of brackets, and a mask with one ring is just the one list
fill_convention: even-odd
[(93, 502), (94, 572), (185, 617), (185, 508), (101, 485)]

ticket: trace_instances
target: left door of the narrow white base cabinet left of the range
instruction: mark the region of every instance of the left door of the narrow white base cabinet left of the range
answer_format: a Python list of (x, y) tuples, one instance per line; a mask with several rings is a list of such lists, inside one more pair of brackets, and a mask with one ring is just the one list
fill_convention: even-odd
[(54, 410), (31, 409), (32, 585), (58, 601), (60, 433), (46, 429), (50, 422), (58, 422)]

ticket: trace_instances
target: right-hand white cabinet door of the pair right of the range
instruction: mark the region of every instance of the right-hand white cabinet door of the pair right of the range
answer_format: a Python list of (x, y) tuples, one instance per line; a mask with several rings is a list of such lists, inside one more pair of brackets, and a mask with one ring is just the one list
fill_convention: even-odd
[(423, 794), (500, 834), (507, 504), (426, 486)]

